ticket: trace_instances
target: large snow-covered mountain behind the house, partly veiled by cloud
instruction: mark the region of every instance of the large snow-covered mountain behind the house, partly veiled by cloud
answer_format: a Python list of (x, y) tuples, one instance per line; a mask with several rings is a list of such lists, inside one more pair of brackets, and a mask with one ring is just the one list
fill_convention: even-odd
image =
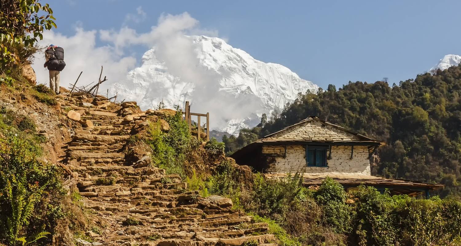
[[(210, 112), (210, 128), (238, 134), (256, 126), (293, 102), (298, 93), (318, 86), (279, 64), (254, 59), (224, 40), (181, 36), (177, 49), (155, 45), (142, 57), (142, 66), (130, 71), (128, 81), (111, 85), (112, 94), (136, 100), (142, 109), (164, 102), (167, 108), (191, 102), (191, 111)], [(194, 119), (193, 119), (194, 120)]]

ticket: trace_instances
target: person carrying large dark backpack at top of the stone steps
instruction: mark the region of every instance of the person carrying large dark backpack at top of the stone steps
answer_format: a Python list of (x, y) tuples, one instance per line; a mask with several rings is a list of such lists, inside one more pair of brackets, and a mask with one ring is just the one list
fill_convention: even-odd
[(43, 67), (47, 67), (50, 72), (50, 89), (59, 94), (59, 72), (65, 67), (64, 49), (51, 44), (45, 50), (45, 59), (47, 61)]

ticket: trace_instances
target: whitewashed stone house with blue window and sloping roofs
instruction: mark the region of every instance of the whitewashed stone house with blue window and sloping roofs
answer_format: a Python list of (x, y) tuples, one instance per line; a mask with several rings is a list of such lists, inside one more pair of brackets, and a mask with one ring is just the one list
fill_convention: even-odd
[(319, 185), (329, 176), (346, 189), (365, 184), (393, 194), (428, 195), (443, 187), (372, 176), (370, 158), (381, 145), (384, 142), (313, 116), (248, 144), (231, 157), (269, 178), (301, 173), (306, 186)]

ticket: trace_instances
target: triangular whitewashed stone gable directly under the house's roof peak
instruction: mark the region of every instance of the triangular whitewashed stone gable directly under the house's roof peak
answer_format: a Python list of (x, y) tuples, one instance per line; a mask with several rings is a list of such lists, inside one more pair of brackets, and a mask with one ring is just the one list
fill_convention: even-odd
[(318, 140), (318, 141), (357, 141), (360, 140), (354, 134), (344, 130), (312, 120), (295, 126), (284, 132), (273, 135), (270, 139), (296, 139), (296, 140)]

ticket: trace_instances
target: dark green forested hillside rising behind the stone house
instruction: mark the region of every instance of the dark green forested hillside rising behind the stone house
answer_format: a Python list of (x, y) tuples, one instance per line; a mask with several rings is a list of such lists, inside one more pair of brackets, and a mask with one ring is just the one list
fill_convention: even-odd
[(336, 90), (299, 95), (280, 114), (238, 138), (223, 138), (226, 151), (276, 132), (310, 115), (387, 143), (378, 151), (374, 175), (437, 182), (441, 196), (459, 198), (461, 189), (461, 66), (418, 75), (390, 86), (350, 82)]

